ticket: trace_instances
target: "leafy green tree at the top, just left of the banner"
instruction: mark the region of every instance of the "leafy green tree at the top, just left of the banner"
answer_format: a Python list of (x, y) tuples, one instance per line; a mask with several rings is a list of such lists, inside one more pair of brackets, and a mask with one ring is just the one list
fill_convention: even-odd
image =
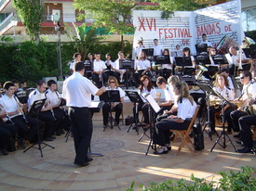
[(131, 10), (140, 3), (134, 0), (74, 0), (74, 7), (85, 10), (86, 16), (95, 20), (93, 26), (106, 27), (108, 32), (120, 34), (123, 49), (123, 35), (134, 32), (129, 23)]

